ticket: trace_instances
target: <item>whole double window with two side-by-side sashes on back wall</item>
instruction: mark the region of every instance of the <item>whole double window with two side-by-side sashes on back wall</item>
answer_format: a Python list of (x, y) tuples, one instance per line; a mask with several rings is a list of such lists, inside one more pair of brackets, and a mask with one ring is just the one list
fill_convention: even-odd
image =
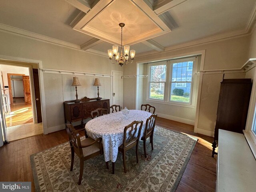
[(196, 58), (148, 64), (148, 99), (191, 104), (194, 61)]

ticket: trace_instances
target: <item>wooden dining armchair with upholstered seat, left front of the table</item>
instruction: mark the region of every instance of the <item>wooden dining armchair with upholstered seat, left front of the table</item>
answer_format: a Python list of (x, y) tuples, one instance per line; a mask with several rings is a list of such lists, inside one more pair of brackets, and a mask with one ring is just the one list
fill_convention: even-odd
[[(73, 127), (72, 124), (66, 124), (66, 131), (68, 133), (68, 138), (70, 142), (71, 148), (71, 165), (70, 171), (73, 170), (74, 166), (74, 154), (79, 157), (80, 159), (80, 174), (78, 185), (81, 184), (82, 176), (84, 172), (84, 161), (100, 154), (103, 154), (103, 149), (101, 145), (101, 138), (96, 140), (88, 137), (84, 140), (80, 140), (80, 136), (77, 130)], [(106, 164), (107, 168), (108, 165)]]

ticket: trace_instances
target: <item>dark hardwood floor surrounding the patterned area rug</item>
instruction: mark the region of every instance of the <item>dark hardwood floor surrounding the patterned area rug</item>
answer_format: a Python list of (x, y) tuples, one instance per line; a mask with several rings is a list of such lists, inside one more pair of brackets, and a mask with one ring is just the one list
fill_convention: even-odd
[[(157, 125), (191, 134), (198, 138), (176, 192), (214, 192), (216, 156), (211, 157), (213, 138), (194, 134), (194, 126), (157, 118)], [(0, 181), (32, 181), (35, 190), (30, 155), (68, 141), (66, 130), (10, 142), (0, 147)]]

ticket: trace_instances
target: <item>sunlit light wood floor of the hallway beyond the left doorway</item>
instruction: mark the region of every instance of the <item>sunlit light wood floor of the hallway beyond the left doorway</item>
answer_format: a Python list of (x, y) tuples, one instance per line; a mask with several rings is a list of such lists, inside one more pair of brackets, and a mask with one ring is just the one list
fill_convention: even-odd
[(43, 134), (42, 123), (33, 123), (32, 106), (25, 105), (24, 98), (14, 98), (10, 108), (10, 115), (5, 116), (8, 141)]

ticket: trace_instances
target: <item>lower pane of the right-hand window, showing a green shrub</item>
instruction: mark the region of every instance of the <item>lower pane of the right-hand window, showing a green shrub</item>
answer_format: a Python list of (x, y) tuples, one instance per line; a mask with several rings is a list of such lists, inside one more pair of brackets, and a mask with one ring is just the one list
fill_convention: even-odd
[(171, 84), (171, 101), (189, 103), (190, 89), (191, 89), (191, 83), (172, 83)]

